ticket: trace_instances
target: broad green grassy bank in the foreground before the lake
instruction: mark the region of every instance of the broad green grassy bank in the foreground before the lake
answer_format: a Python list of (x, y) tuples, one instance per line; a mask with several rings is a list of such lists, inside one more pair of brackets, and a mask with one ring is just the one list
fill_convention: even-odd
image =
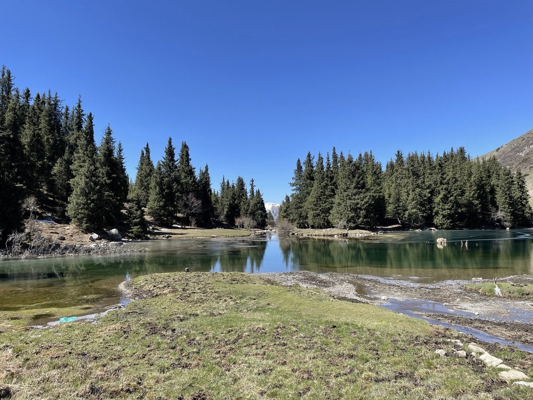
[[(157, 274), (96, 324), (0, 327), (0, 395), (54, 399), (531, 398), (445, 332), (246, 274)], [(485, 346), (487, 348), (487, 346)], [(490, 347), (533, 373), (533, 357)]]

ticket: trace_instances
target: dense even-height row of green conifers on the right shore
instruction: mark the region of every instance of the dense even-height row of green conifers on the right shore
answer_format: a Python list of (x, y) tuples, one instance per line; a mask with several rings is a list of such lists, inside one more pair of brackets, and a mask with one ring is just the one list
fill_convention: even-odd
[(397, 151), (385, 166), (372, 151), (296, 161), (278, 218), (300, 228), (529, 227), (524, 176), (495, 157), (472, 159), (463, 147), (442, 155)]

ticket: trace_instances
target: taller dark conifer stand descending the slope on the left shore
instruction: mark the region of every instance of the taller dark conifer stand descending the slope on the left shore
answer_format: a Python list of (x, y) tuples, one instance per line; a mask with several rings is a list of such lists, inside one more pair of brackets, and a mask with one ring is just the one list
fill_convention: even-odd
[(243, 178), (223, 180), (211, 189), (208, 166), (198, 174), (189, 147), (182, 142), (176, 157), (168, 139), (163, 159), (154, 166), (150, 148), (141, 150), (135, 181), (130, 182), (124, 153), (108, 125), (99, 145), (94, 117), (79, 97), (63, 106), (58, 93), (31, 94), (14, 86), (11, 71), (0, 75), (0, 247), (22, 230), (23, 201), (28, 197), (55, 206), (56, 215), (84, 231), (118, 226), (131, 237), (147, 234), (144, 214), (157, 223), (177, 218), (192, 226), (213, 221), (264, 227), (266, 211), (253, 180), (249, 195)]

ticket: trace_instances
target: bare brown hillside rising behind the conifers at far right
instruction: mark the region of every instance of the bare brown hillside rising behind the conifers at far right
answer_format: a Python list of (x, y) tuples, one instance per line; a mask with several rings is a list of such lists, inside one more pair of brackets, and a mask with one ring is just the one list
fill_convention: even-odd
[(519, 169), (522, 171), (526, 177), (526, 187), (531, 201), (533, 199), (533, 129), (505, 145), (483, 154), (480, 158), (491, 156), (495, 156), (500, 163), (512, 171)]

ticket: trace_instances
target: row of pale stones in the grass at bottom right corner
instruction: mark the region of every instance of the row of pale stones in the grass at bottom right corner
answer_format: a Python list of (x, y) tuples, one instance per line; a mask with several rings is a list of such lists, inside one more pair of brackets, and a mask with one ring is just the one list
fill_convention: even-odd
[[(447, 339), (449, 342), (453, 342), (454, 345), (464, 348), (463, 342), (461, 340), (455, 339)], [(482, 349), (475, 343), (469, 343), (467, 345), (467, 348), (469, 351), (471, 351), (470, 355), (473, 358), (479, 358), (486, 366), (490, 367), (496, 367), (497, 369), (503, 370), (502, 372), (498, 373), (498, 377), (508, 383), (513, 382), (514, 385), (520, 385), (525, 386), (533, 389), (533, 382), (526, 382), (524, 379), (530, 379), (528, 375), (524, 374), (522, 371), (518, 371), (516, 369), (512, 369), (510, 366), (505, 365), (503, 363), (503, 360), (494, 356), (491, 356), (486, 350)], [(443, 349), (439, 349), (435, 351), (439, 356), (445, 357), (446, 351)], [(455, 357), (459, 358), (466, 358), (467, 354), (465, 350), (457, 350), (454, 351), (453, 355)]]

